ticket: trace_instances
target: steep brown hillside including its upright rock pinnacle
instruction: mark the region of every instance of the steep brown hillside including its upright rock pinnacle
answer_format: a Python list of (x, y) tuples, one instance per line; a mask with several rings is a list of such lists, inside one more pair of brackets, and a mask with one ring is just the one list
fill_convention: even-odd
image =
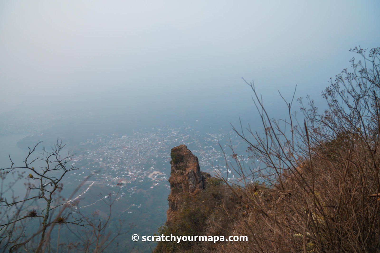
[[(313, 168), (310, 160), (300, 160), (270, 187), (228, 185), (201, 173), (186, 146), (173, 148), (168, 220), (158, 233), (193, 237), (159, 241), (155, 252), (379, 251), (379, 171), (364, 143), (357, 138), (355, 148), (346, 149), (352, 145), (347, 138), (315, 147)], [(230, 236), (247, 240), (228, 241)]]

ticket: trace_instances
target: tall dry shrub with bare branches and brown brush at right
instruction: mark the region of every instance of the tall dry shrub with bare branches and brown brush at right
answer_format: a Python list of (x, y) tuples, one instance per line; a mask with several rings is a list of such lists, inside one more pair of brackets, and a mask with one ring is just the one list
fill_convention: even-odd
[[(250, 83), (264, 134), (236, 132), (249, 153), (265, 166), (246, 170), (238, 156), (227, 164), (245, 181), (261, 178), (266, 186), (245, 185), (244, 217), (234, 234), (249, 236), (226, 252), (376, 252), (380, 251), (380, 48), (351, 60), (323, 92), (328, 109), (308, 97), (303, 124), (269, 118)], [(301, 104), (302, 101), (300, 100)], [(225, 181), (227, 182), (227, 181)], [(235, 195), (239, 193), (230, 188)]]

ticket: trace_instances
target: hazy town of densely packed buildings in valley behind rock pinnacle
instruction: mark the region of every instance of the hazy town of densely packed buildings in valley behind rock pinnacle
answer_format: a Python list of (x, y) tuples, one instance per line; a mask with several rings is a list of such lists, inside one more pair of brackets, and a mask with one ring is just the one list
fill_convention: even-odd
[(212, 173), (214, 167), (218, 167), (218, 173), (223, 173), (225, 160), (219, 143), (228, 140), (228, 134), (201, 134), (191, 127), (161, 127), (133, 130), (132, 134), (121, 136), (98, 135), (75, 148), (78, 152), (72, 164), (79, 170), (70, 175), (70, 180), (82, 181), (88, 174), (95, 173), (92, 181), (125, 187), (123, 192), (129, 196), (140, 188), (149, 190), (158, 184), (169, 188), (170, 150), (178, 144), (197, 147), (193, 153), (199, 158), (203, 171)]

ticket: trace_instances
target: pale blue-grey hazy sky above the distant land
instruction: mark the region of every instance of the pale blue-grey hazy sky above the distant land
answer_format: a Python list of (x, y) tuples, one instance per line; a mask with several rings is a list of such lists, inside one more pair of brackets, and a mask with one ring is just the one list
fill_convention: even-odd
[(348, 50), (380, 46), (374, 1), (0, 2), (0, 113), (251, 106), (320, 91)]

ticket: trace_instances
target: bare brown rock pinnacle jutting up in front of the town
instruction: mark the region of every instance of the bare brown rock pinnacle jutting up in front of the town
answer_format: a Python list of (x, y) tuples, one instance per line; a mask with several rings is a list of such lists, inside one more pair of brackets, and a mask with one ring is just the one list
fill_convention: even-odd
[(184, 194), (195, 195), (204, 188), (209, 173), (202, 173), (199, 168), (198, 157), (185, 145), (171, 149), (170, 189), (168, 197), (169, 209), (166, 212), (167, 224), (174, 221), (174, 213), (180, 208)]

